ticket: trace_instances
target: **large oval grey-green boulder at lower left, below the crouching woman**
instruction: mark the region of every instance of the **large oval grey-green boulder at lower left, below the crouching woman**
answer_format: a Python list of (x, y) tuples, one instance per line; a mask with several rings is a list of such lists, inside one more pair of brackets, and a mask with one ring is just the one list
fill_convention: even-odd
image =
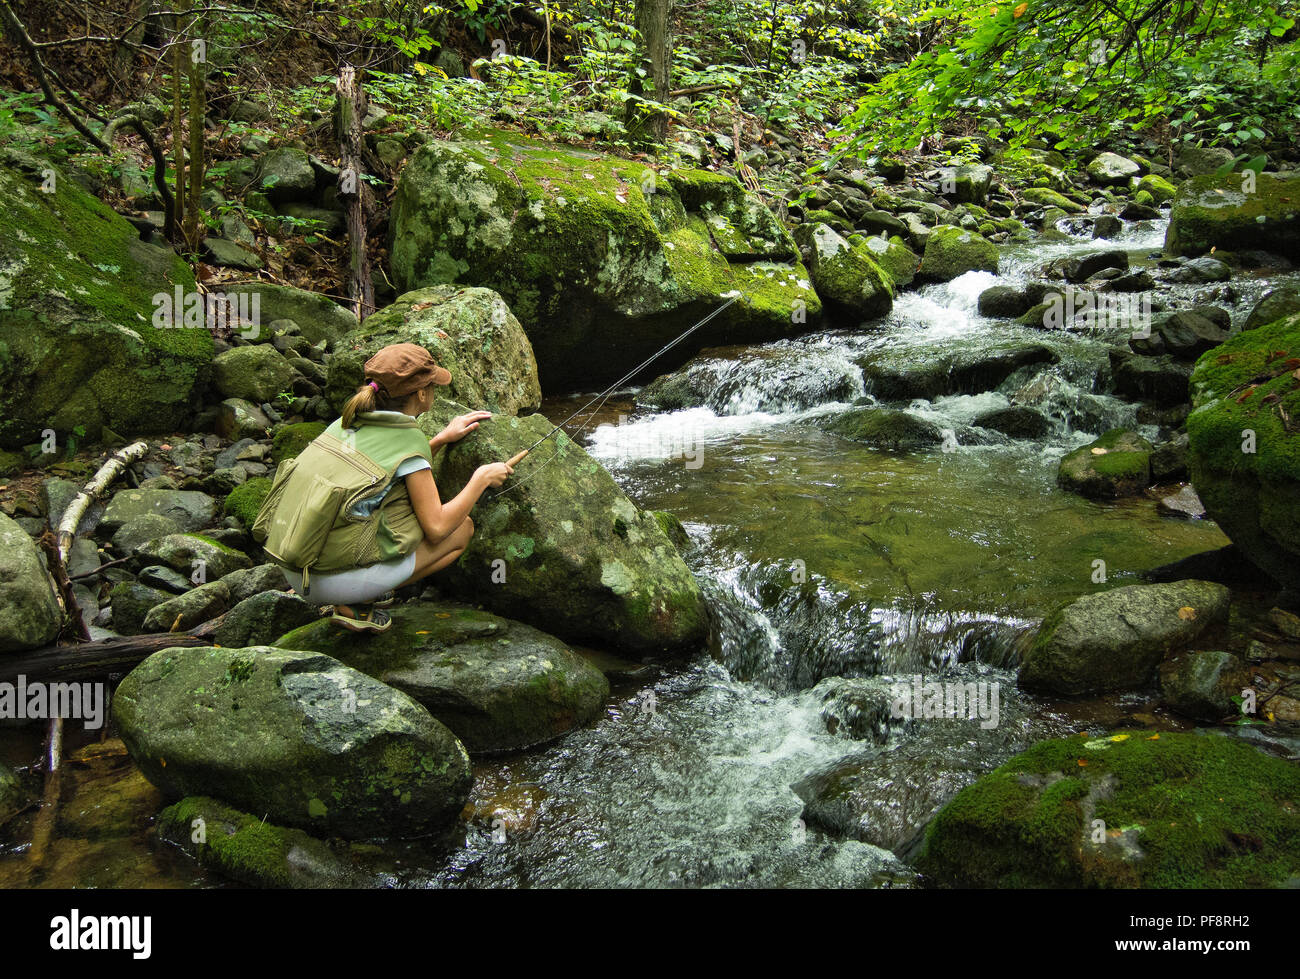
[(469, 796), (469, 757), (446, 727), (318, 653), (160, 650), (117, 688), (113, 723), (168, 796), (214, 796), (313, 833), (426, 833)]

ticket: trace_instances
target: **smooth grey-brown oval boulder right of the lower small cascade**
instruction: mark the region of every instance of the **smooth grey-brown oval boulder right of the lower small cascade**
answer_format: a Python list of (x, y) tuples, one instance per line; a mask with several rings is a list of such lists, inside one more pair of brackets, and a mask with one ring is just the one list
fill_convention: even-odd
[(1028, 690), (1066, 696), (1145, 686), (1171, 650), (1227, 620), (1212, 581), (1124, 585), (1063, 605), (1043, 620), (1020, 663)]

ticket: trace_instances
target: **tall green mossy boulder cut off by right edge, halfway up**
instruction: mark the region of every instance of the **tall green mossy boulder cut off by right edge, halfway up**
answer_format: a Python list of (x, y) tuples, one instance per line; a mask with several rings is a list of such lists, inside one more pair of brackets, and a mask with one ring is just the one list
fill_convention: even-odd
[(1247, 558), (1300, 588), (1300, 313), (1201, 355), (1191, 381), (1188, 471)]

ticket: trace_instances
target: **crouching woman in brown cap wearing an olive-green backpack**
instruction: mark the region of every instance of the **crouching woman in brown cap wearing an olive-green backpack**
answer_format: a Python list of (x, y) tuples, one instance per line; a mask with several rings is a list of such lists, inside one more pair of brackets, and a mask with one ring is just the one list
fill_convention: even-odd
[(332, 621), (344, 629), (387, 629), (391, 592), (459, 558), (474, 532), (469, 511), (514, 472), (507, 463), (480, 465), (442, 502), (434, 454), (491, 417), (460, 415), (426, 438), (416, 419), (450, 382), (424, 347), (384, 347), (365, 361), (365, 382), (342, 417), (276, 471), (254, 538), (298, 594), (334, 606)]

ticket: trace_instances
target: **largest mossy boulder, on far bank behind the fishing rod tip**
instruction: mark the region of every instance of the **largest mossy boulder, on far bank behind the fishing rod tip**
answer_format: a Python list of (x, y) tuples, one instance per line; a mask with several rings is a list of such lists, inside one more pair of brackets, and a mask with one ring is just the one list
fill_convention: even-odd
[[(822, 304), (775, 216), (731, 177), (481, 130), (407, 163), (390, 220), (399, 289), (498, 291), (549, 390), (612, 381), (727, 298), (676, 348), (815, 329)], [(672, 367), (660, 363), (659, 368)]]

